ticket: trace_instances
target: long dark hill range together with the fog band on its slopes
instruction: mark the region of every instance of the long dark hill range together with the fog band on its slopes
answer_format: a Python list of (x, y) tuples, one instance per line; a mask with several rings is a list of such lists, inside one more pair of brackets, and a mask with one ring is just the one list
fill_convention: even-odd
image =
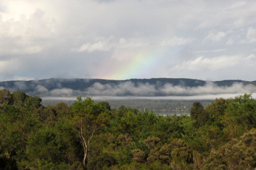
[(32, 96), (196, 96), (255, 93), (256, 81), (152, 78), (130, 80), (62, 79), (0, 82), (0, 89)]

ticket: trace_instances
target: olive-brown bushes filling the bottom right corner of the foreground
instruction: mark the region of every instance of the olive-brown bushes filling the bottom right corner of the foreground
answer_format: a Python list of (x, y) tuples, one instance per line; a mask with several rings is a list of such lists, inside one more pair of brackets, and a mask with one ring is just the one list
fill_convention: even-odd
[(204, 169), (255, 169), (256, 129), (252, 128), (241, 139), (232, 139), (219, 150), (211, 150)]

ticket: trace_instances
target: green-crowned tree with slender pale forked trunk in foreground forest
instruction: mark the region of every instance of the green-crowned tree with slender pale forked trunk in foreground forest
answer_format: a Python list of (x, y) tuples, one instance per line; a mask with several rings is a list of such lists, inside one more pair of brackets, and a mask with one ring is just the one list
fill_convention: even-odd
[[(108, 122), (108, 114), (105, 110), (99, 109), (99, 105), (87, 97), (84, 101), (79, 96), (78, 101), (72, 104), (71, 112), (73, 114), (72, 125), (77, 131), (80, 142), (83, 144), (83, 165), (88, 161), (90, 142), (94, 134)], [(99, 112), (100, 111), (100, 112)]]

